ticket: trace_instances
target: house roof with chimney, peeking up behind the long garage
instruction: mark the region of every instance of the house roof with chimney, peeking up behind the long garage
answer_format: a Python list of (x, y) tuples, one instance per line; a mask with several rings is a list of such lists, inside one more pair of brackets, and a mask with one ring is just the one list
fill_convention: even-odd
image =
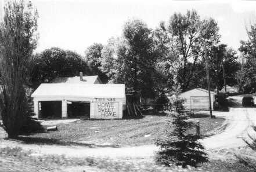
[[(82, 76), (82, 81), (80, 76), (73, 77), (60, 77), (52, 80), (52, 83), (95, 83), (98, 78), (98, 75), (93, 76)], [(99, 79), (100, 80), (100, 79)], [(101, 82), (101, 80), (100, 80)]]

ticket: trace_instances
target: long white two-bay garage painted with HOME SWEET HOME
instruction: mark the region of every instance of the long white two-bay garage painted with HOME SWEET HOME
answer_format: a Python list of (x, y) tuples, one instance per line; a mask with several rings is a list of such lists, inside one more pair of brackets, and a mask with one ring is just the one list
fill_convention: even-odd
[(121, 119), (123, 84), (42, 83), (31, 95), (37, 118)]

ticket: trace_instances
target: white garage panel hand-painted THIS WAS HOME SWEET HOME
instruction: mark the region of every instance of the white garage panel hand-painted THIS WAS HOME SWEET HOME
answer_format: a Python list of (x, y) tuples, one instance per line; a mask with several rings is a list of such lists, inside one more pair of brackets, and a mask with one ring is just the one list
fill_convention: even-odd
[(115, 119), (119, 118), (119, 103), (113, 101), (96, 101), (95, 118), (98, 119)]

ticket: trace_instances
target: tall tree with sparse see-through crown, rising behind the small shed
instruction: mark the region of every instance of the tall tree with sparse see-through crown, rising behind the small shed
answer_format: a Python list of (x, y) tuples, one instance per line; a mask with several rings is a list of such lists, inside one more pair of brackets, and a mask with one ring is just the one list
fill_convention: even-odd
[[(188, 89), (196, 65), (203, 58), (204, 45), (207, 47), (219, 42), (219, 28), (213, 19), (200, 20), (195, 10), (186, 14), (174, 13), (168, 24), (168, 32), (173, 45), (182, 61), (182, 73), (179, 77), (182, 91)], [(189, 63), (192, 67), (189, 67)]]

